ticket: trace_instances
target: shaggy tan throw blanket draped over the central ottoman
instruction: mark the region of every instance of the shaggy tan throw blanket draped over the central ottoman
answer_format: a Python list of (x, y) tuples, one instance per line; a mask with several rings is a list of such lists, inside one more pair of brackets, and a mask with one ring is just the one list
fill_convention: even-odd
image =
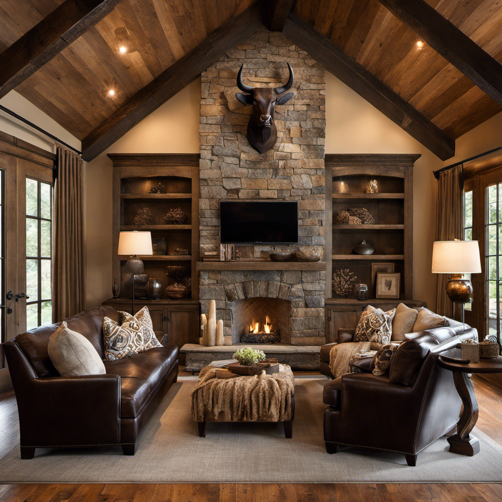
[(216, 378), (216, 368), (201, 369), (190, 391), (192, 417), (196, 422), (285, 422), (291, 417), (295, 393), (293, 371), (281, 364), (280, 372), (254, 376)]

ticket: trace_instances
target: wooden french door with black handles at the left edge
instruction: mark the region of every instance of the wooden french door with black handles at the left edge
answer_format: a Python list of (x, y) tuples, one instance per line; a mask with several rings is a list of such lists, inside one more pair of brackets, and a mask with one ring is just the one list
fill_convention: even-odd
[[(6, 341), (52, 322), (53, 160), (49, 152), (39, 157), (2, 147), (9, 151), (0, 151), (0, 330)], [(5, 365), (2, 353), (0, 368)]]

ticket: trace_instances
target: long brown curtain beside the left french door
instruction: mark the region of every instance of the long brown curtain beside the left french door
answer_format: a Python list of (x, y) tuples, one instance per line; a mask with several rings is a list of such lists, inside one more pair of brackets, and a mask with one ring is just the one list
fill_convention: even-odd
[(57, 160), (52, 257), (54, 322), (85, 310), (82, 159), (58, 147)]

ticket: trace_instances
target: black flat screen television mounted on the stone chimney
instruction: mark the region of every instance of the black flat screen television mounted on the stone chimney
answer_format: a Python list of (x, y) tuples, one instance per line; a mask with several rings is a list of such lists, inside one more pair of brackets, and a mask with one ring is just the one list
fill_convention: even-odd
[(222, 244), (298, 243), (298, 202), (220, 201)]

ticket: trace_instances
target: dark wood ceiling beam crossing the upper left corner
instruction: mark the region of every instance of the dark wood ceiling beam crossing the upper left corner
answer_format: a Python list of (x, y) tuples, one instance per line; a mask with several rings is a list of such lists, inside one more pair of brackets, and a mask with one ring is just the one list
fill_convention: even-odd
[(121, 0), (66, 0), (0, 54), (0, 98), (109, 14)]

